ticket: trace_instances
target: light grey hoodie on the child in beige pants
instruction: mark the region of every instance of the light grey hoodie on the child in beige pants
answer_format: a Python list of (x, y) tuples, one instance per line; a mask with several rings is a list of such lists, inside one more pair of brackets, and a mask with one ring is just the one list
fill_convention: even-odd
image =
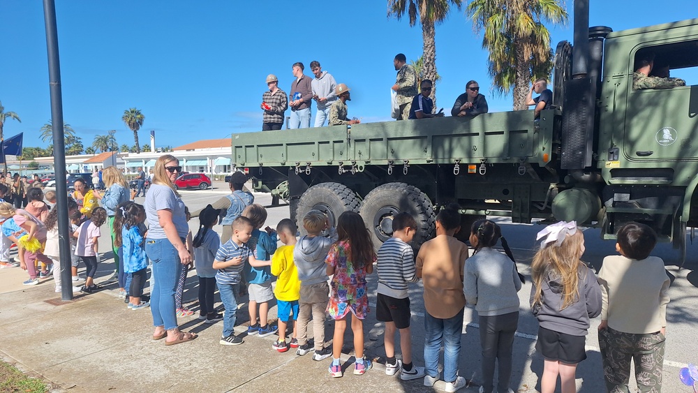
[(301, 286), (323, 283), (329, 279), (325, 258), (327, 258), (329, 247), (337, 239), (339, 237), (334, 228), (329, 228), (329, 237), (303, 236), (298, 239), (293, 249), (293, 262), (298, 269), (298, 279), (301, 281)]

